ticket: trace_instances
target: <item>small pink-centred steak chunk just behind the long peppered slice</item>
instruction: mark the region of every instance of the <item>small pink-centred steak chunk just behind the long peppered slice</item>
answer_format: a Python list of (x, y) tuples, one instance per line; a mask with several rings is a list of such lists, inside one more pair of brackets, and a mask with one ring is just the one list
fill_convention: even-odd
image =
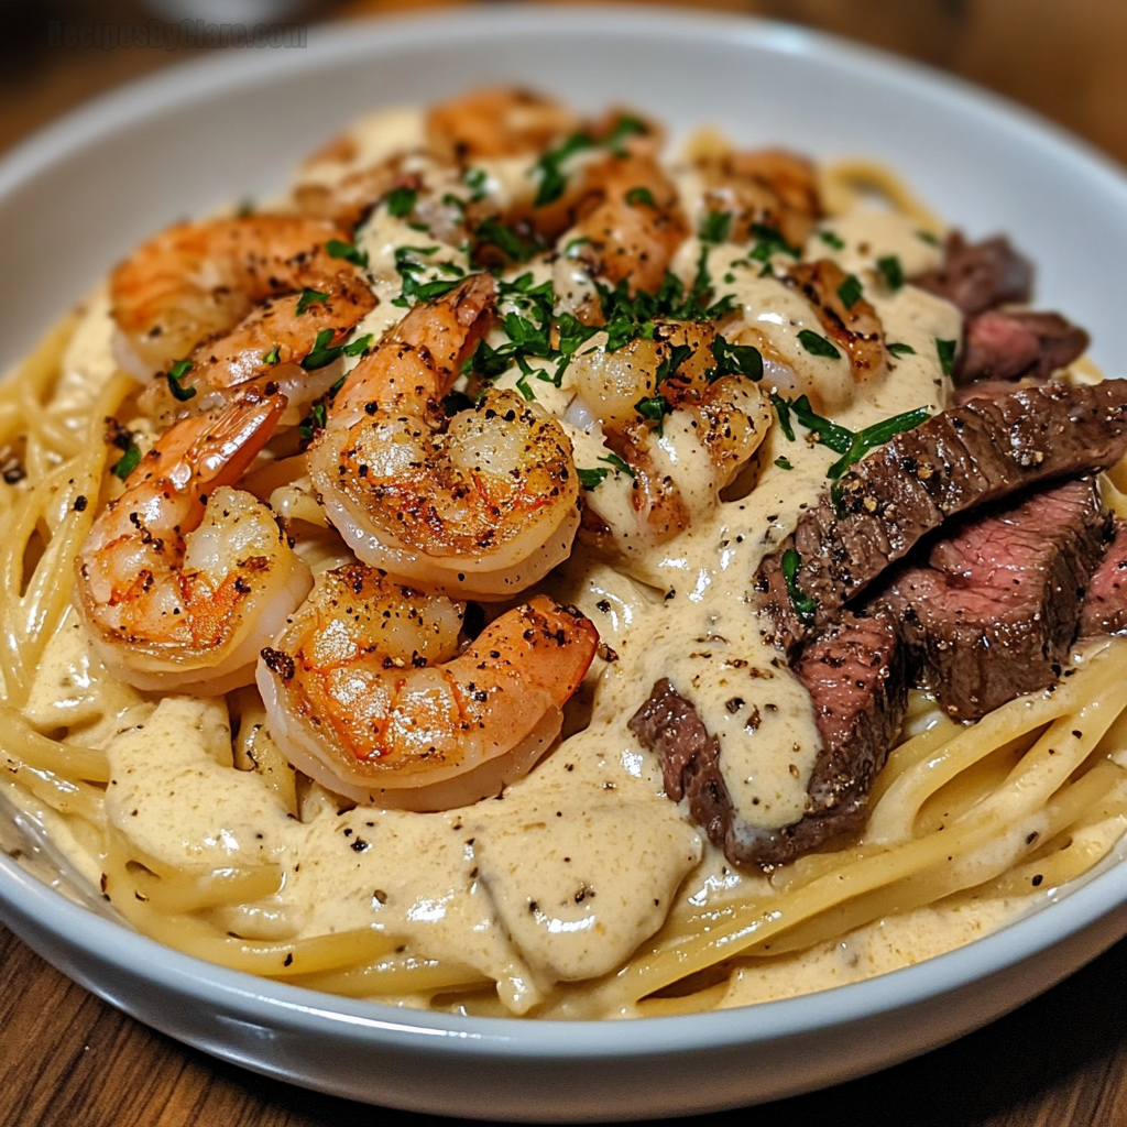
[(1059, 313), (982, 313), (967, 322), (952, 375), (957, 384), (1022, 376), (1047, 380), (1088, 345), (1088, 334)]

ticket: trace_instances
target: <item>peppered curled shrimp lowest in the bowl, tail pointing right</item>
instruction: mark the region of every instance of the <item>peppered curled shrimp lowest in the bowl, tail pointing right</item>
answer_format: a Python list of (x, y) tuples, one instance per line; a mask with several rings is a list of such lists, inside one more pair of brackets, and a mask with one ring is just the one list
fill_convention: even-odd
[(290, 762), (354, 801), (415, 810), (476, 802), (527, 772), (598, 635), (538, 595), (458, 655), (463, 612), (363, 565), (321, 573), (258, 665)]

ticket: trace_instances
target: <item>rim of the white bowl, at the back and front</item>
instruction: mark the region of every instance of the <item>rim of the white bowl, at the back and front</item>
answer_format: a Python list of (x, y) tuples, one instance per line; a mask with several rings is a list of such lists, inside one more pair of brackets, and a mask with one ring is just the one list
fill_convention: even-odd
[[(103, 95), (17, 145), (0, 161), (0, 206), (9, 192), (47, 170), (76, 147), (97, 144), (123, 126), (159, 117), (181, 106), (202, 89), (237, 91), (255, 86), (283, 69), (312, 69), (343, 59), (356, 59), (410, 47), (426, 37), (440, 39), (495, 38), (520, 33), (574, 32), (582, 10), (588, 29), (601, 35), (629, 34), (667, 39), (675, 35), (698, 42), (747, 43), (781, 54), (801, 54), (845, 71), (879, 73), (915, 96), (991, 118), (1002, 131), (1061, 159), (1076, 162), (1079, 172), (1098, 180), (1124, 201), (1127, 179), (1109, 158), (1037, 114), (958, 78), (881, 51), (806, 28), (749, 16), (686, 12), (665, 7), (609, 6), (600, 9), (566, 6), (544, 9), (440, 9), (408, 17), (317, 25), (316, 37), (298, 60), (290, 52), (255, 52), (238, 65), (211, 56), (174, 65)], [(1083, 878), (1081, 878), (1083, 881)], [(165, 947), (127, 926), (101, 919), (66, 899), (0, 855), (0, 900), (41, 929), (62, 937), (106, 966), (166, 988), (236, 1010), (264, 1026), (287, 1026), (322, 1036), (353, 1036), (392, 1040), (403, 1047), (428, 1041), (428, 1048), (450, 1054), (485, 1054), (520, 1058), (638, 1057), (687, 1050), (717, 1049), (849, 1026), (939, 997), (988, 978), (1067, 939), (1127, 902), (1127, 861), (1091, 877), (1080, 887), (1031, 911), (1000, 930), (944, 955), (875, 978), (797, 997), (733, 1010), (708, 1011), (636, 1021), (542, 1021), (520, 1018), (467, 1018), (402, 1010), (321, 994), (205, 962)], [(1067, 908), (1062, 904), (1067, 902)], [(139, 967), (144, 971), (139, 971)]]

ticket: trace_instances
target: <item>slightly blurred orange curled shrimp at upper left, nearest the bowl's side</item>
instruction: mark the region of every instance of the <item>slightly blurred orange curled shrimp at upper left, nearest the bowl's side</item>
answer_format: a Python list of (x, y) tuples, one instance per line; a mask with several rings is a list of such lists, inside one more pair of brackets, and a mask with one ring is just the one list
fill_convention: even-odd
[[(360, 310), (374, 304), (355, 269), (326, 249), (334, 239), (346, 240), (347, 232), (294, 215), (208, 220), (162, 231), (110, 275), (123, 366), (152, 375), (203, 341), (229, 334), (259, 302), (312, 291), (329, 301), (307, 298), (303, 317), (296, 312), (300, 296), (258, 311), (227, 350), (216, 353), (215, 363), (232, 371), (238, 383), (270, 366), (264, 357), (275, 345), (302, 358), (316, 340), (314, 325), (350, 328), (364, 316)], [(303, 319), (320, 304), (330, 308)], [(275, 321), (289, 336), (274, 339)], [(193, 367), (210, 355), (202, 349)]]

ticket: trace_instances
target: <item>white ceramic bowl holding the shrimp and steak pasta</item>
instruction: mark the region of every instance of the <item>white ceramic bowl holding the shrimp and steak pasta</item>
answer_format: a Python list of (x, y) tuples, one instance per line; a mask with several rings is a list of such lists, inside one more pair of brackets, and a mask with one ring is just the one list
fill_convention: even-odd
[[(0, 363), (33, 344), (136, 240), (276, 188), (380, 104), (518, 81), (584, 108), (630, 103), (675, 133), (887, 161), (973, 234), (1004, 230), (1039, 302), (1127, 355), (1127, 183), (1058, 131), (950, 79), (795, 28), (671, 10), (446, 11), (314, 27), (304, 50), (229, 52), (64, 118), (0, 166)], [(0, 818), (3, 815), (0, 814)], [(18, 833), (6, 824), (5, 836)], [(30, 849), (30, 843), (25, 843)], [(46, 858), (52, 864), (51, 858)], [(743, 1010), (637, 1022), (454, 1018), (341, 1000), (201, 962), (71, 903), (0, 857), (0, 916), (126, 1012), (267, 1075), (417, 1111), (627, 1119), (777, 1099), (960, 1036), (1127, 933), (1127, 862), (928, 962)]]

